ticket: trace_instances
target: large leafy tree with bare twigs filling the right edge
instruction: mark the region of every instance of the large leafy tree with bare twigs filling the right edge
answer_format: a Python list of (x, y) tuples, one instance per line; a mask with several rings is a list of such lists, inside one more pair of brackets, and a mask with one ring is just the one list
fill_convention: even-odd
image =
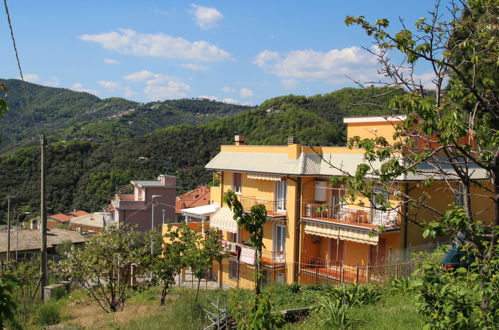
[[(349, 141), (351, 147), (364, 148), (367, 159), (355, 175), (342, 178), (350, 186), (350, 196), (361, 192), (386, 210), (391, 206), (382, 195), (389, 193), (405, 206), (427, 209), (435, 221), (419, 223), (425, 227), (424, 236), (460, 233), (475, 260), (452, 280), (437, 264), (421, 269), (420, 310), (432, 320), (431, 327), (493, 327), (498, 321), (498, 14), (496, 1), (468, 0), (451, 3), (450, 11), (442, 15), (437, 1), (429, 19), (419, 19), (414, 30), (402, 21), (403, 29), (395, 34), (390, 33), (387, 19), (371, 24), (362, 16), (346, 18), (348, 25), (360, 25), (374, 39), (376, 47), (370, 51), (380, 63), (380, 73), (389, 79), (386, 84), (407, 92), (391, 101), (393, 112), (406, 116), (395, 128), (395, 142), (384, 137)], [(393, 61), (395, 51), (403, 57), (401, 64)], [(422, 63), (431, 68), (431, 91), (416, 73)], [(410, 195), (391, 184), (403, 174), (426, 175), (422, 186), (427, 187), (444, 182), (460, 202), (444, 211), (431, 207), (424, 194)], [(488, 199), (490, 218), (474, 209), (477, 197)], [(469, 297), (478, 293), (478, 298), (466, 303), (450, 299), (449, 290)], [(469, 311), (475, 317), (463, 318)], [(451, 323), (455, 315), (465, 321)], [(477, 323), (466, 323), (470, 320)]]

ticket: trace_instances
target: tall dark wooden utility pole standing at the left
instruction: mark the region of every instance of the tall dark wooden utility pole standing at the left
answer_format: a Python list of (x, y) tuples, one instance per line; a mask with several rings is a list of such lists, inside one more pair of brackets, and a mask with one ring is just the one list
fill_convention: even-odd
[(40, 299), (44, 300), (44, 288), (47, 285), (47, 209), (45, 205), (45, 135), (40, 136), (40, 232), (42, 246), (40, 249)]

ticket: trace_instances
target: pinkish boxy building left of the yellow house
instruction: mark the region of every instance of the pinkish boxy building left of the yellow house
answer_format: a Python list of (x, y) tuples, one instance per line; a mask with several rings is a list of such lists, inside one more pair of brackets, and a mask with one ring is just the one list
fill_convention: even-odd
[[(161, 174), (157, 181), (132, 181), (134, 193), (111, 201), (116, 224), (136, 225), (139, 231), (156, 230), (175, 219), (176, 180)], [(154, 211), (154, 212), (153, 212)]]

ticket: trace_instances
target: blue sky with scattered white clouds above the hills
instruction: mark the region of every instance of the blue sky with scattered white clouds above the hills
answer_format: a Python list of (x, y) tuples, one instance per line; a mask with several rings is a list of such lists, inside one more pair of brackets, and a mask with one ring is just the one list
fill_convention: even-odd
[[(434, 1), (9, 1), (27, 80), (140, 102), (259, 104), (376, 79), (371, 40), (347, 15), (413, 23)], [(2, 6), (3, 7), (3, 6)], [(0, 77), (18, 78), (5, 13)], [(424, 68), (421, 72), (424, 75)]]

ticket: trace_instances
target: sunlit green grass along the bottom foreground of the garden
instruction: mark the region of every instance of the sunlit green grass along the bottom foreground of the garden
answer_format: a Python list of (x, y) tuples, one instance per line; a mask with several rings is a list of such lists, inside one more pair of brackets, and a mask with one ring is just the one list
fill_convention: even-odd
[[(276, 310), (311, 307), (318, 301), (317, 293), (332, 290), (331, 286), (276, 285), (265, 288), (271, 291), (271, 301)], [(348, 317), (354, 329), (421, 329), (423, 320), (414, 307), (411, 294), (403, 290), (385, 290), (380, 301), (371, 305), (352, 307)], [(29, 325), (23, 328), (38, 329), (51, 323), (57, 329), (199, 329), (209, 321), (194, 303), (195, 290), (174, 288), (167, 296), (165, 306), (159, 306), (160, 288), (153, 287), (135, 294), (127, 300), (123, 311), (105, 313), (84, 291), (74, 291), (56, 302), (37, 307)], [(229, 311), (233, 308), (250, 310), (253, 292), (242, 289), (201, 290), (199, 302), (208, 308), (217, 299), (226, 296)], [(223, 302), (223, 300), (220, 300)], [(221, 304), (223, 305), (223, 304)], [(224, 307), (224, 306), (221, 306)], [(211, 306), (210, 309), (215, 309)], [(38, 314), (37, 314), (38, 313)], [(41, 313), (41, 314), (40, 314)], [(325, 329), (324, 315), (315, 310), (300, 322), (286, 324), (284, 329)], [(322, 323), (321, 323), (322, 321)], [(322, 327), (321, 327), (322, 325)], [(334, 329), (334, 327), (333, 327)]]

